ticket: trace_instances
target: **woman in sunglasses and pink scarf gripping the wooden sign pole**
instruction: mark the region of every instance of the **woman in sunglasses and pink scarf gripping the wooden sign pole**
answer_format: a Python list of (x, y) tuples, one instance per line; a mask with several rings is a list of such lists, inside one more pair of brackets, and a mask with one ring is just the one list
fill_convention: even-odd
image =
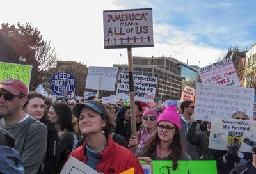
[(129, 149), (132, 152), (136, 152), (137, 147), (143, 146), (147, 143), (148, 139), (152, 137), (157, 132), (156, 122), (158, 118), (158, 113), (156, 109), (147, 109), (144, 111), (142, 116), (142, 126), (143, 129), (137, 132), (136, 136), (131, 136), (129, 142)]

